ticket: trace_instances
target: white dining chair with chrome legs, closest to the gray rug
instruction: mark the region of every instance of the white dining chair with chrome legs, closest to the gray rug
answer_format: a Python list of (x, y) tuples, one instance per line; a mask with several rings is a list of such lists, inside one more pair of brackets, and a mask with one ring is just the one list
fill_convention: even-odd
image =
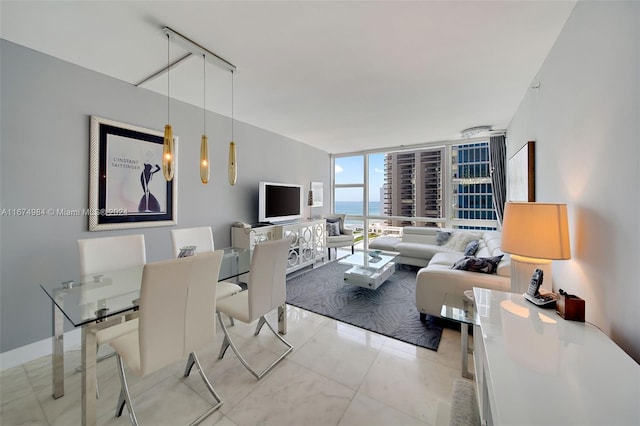
[[(290, 238), (256, 244), (251, 258), (251, 269), (249, 271), (247, 289), (218, 301), (218, 318), (220, 319), (219, 322), (224, 332), (224, 341), (220, 348), (218, 358), (222, 359), (227, 348), (231, 346), (231, 349), (238, 359), (240, 359), (240, 362), (242, 362), (258, 380), (293, 350), (293, 346), (278, 334), (266, 318), (269, 312), (284, 305), (286, 302), (286, 268), (290, 245)], [(267, 324), (273, 334), (286, 345), (287, 349), (265, 369), (260, 372), (256, 371), (233, 343), (229, 331), (222, 321), (221, 313), (247, 324), (258, 319), (254, 335), (257, 336), (262, 326)]]

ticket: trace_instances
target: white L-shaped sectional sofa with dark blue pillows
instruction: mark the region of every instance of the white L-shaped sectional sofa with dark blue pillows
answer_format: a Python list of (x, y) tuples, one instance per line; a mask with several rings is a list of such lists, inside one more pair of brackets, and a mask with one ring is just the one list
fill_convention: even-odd
[[(438, 245), (438, 231), (452, 232), (450, 240)], [(467, 234), (467, 235), (462, 235)], [(475, 235), (474, 235), (475, 234)], [(495, 257), (503, 255), (494, 274), (451, 269), (454, 263), (464, 257), (467, 241), (477, 239), (476, 257)], [(407, 226), (403, 230), (402, 240), (395, 237), (378, 237), (371, 242), (370, 248), (395, 251), (397, 263), (421, 266), (416, 277), (416, 307), (420, 318), (426, 315), (440, 317), (440, 311), (447, 293), (463, 296), (465, 290), (483, 287), (493, 290), (509, 291), (511, 287), (511, 258), (500, 250), (499, 231), (446, 230)]]

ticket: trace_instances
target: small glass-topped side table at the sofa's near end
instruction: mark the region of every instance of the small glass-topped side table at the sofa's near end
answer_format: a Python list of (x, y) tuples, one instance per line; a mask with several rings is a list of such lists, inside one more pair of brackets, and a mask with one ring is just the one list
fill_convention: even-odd
[(460, 323), (462, 377), (473, 380), (473, 373), (469, 371), (469, 354), (473, 353), (469, 347), (469, 325), (479, 324), (473, 302), (464, 295), (447, 293), (440, 316)]

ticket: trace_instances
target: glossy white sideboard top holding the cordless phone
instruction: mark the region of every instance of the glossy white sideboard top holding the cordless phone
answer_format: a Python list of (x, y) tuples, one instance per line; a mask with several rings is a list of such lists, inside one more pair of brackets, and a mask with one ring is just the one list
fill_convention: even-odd
[(638, 425), (640, 365), (596, 327), (474, 288), (496, 425)]

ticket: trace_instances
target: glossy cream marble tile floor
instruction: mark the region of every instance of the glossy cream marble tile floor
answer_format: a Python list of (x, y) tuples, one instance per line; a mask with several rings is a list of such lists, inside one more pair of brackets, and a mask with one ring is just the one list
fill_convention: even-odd
[[(445, 425), (454, 379), (460, 377), (460, 333), (445, 328), (437, 352), (409, 345), (314, 313), (288, 306), (286, 338), (295, 350), (262, 380), (255, 378), (222, 342), (200, 351), (203, 367), (224, 405), (204, 425)], [(276, 323), (275, 315), (271, 317)], [(219, 327), (218, 327), (219, 328)], [(249, 362), (266, 366), (281, 349), (265, 329), (231, 327)], [(104, 349), (104, 348), (103, 348)], [(106, 348), (107, 350), (109, 348)], [(65, 354), (65, 395), (51, 396), (49, 357), (0, 375), (2, 425), (80, 424), (80, 351)], [(120, 383), (115, 357), (98, 366), (98, 424), (127, 425), (126, 411), (114, 417)], [(141, 424), (187, 424), (206, 411), (210, 395), (184, 363), (144, 379), (132, 374), (130, 390)]]

